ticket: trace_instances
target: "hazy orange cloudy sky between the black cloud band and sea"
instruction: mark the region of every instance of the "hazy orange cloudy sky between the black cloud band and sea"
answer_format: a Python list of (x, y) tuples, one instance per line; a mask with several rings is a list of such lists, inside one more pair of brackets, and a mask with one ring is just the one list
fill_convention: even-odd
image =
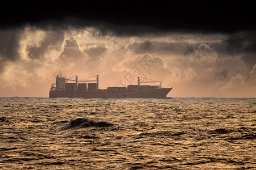
[(48, 97), (59, 70), (67, 78), (100, 75), (100, 88), (136, 84), (135, 72), (174, 87), (169, 97), (256, 97), (253, 37), (253, 31), (118, 36), (94, 27), (0, 30), (0, 97)]

